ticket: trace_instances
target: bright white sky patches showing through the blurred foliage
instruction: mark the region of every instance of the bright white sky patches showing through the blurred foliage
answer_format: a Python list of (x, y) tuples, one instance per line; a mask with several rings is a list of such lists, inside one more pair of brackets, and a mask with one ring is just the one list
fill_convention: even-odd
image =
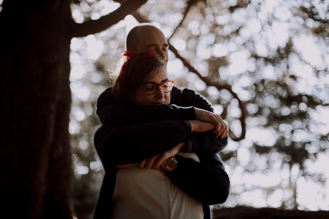
[[(1, 1), (1, 0), (0, 0)], [(286, 45), (287, 41), (291, 37), (291, 29), (296, 29), (298, 22), (290, 10), (290, 7), (296, 3), (293, 1), (280, 1), (280, 0), (267, 0), (261, 1), (263, 6), (258, 14), (258, 17), (244, 20), (244, 15), (238, 16), (238, 14), (233, 14), (232, 17), (227, 15), (217, 16), (215, 18), (218, 24), (226, 24), (228, 20), (234, 19), (235, 22), (245, 23), (243, 28), (240, 30), (240, 36), (236, 37), (234, 43), (218, 42), (214, 43), (212, 51), (208, 48), (200, 46), (197, 50), (197, 55), (203, 59), (209, 59), (211, 56), (224, 57), (228, 56), (230, 64), (228, 68), (221, 71), (221, 78), (227, 79), (236, 75), (239, 75), (247, 70), (254, 70), (256, 68), (256, 62), (251, 58), (251, 54), (247, 48), (241, 48), (241, 44), (244, 42), (244, 38), (250, 36), (259, 37), (255, 45), (256, 53), (261, 57), (267, 57), (271, 51), (280, 46)], [(327, 1), (328, 2), (328, 1)], [(78, 7), (78, 6), (74, 6)], [(73, 18), (77, 23), (82, 23), (84, 17), (79, 10), (72, 8)], [(88, 6), (89, 7), (89, 6)], [(88, 11), (90, 8), (82, 4), (82, 10)], [(109, 12), (114, 11), (119, 7), (118, 3), (114, 3), (107, 0), (99, 1), (98, 7), (101, 8), (99, 13), (93, 13), (91, 19), (98, 19), (100, 16), (106, 15)], [(324, 13), (320, 10), (321, 13)], [(274, 17), (279, 18), (273, 21), (271, 27), (264, 28), (262, 25), (267, 22), (268, 14), (272, 14)], [(327, 15), (328, 16), (328, 15)], [(126, 16), (123, 21), (112, 27), (113, 30), (120, 27), (126, 28), (126, 33), (133, 28), (138, 22), (131, 15)], [(158, 23), (154, 23), (156, 26), (164, 31), (166, 37), (171, 36), (172, 30), (170, 28), (161, 27)], [(198, 25), (191, 22), (189, 25)], [(295, 25), (295, 26), (294, 26)], [(309, 24), (312, 25), (311, 23)], [(265, 29), (265, 30), (264, 30)], [(225, 30), (224, 30), (225, 31)], [(258, 33), (263, 31), (266, 34), (266, 40), (261, 37)], [(320, 39), (309, 34), (307, 30), (300, 30), (300, 33), (292, 37), (293, 47), (304, 62), (300, 62), (299, 58), (289, 57), (290, 69), (289, 73), (298, 77), (295, 84), (296, 92), (305, 93), (312, 95), (315, 90), (315, 86), (324, 87), (329, 85), (328, 74), (316, 77), (314, 74), (314, 69), (323, 70), (329, 69), (329, 55), (328, 46), (325, 42), (321, 42)], [(96, 61), (105, 51), (104, 42), (101, 40), (102, 33), (97, 35), (89, 35), (83, 38), (73, 38), (71, 40), (71, 90), (73, 95), (73, 101), (75, 99), (80, 99), (81, 101), (86, 101), (89, 98), (94, 99), (97, 96), (90, 97), (91, 90), (88, 86), (84, 85), (80, 80), (86, 77), (88, 72), (95, 71), (92, 63)], [(209, 34), (211, 38), (211, 33)], [(208, 39), (211, 40), (211, 39)], [(187, 48), (186, 40), (183, 38), (175, 37), (171, 41), (171, 44), (175, 46), (178, 51), (184, 51)], [(118, 47), (117, 42), (112, 42), (114, 47)], [(325, 46), (324, 46), (325, 45)], [(86, 52), (85, 57), (79, 53), (81, 48)], [(87, 57), (87, 58), (86, 58)], [(324, 57), (324, 58), (322, 58)], [(86, 64), (86, 59), (89, 59), (89, 64)], [(204, 70), (207, 72), (207, 66), (202, 64), (197, 64), (198, 70)], [(111, 68), (111, 67), (109, 67)], [(170, 52), (168, 61), (168, 78), (186, 78), (189, 82), (189, 87), (195, 90), (204, 90), (206, 85), (194, 74), (189, 73), (184, 67), (182, 62), (175, 58), (175, 56)], [(206, 74), (206, 73), (205, 73)], [(275, 80), (279, 72), (273, 68), (271, 65), (264, 66), (262, 69), (261, 77), (264, 79)], [(101, 78), (99, 75), (91, 77), (93, 83), (97, 83)], [(249, 93), (244, 90), (244, 87), (254, 84), (253, 79), (248, 77), (241, 77), (239, 80), (235, 81), (233, 85), (233, 90), (239, 95), (241, 100), (249, 100)], [(98, 95), (103, 90), (99, 90)], [(219, 92), (211, 87), (208, 88), (208, 92), (211, 95), (219, 96)], [(323, 97), (326, 103), (329, 103), (327, 93), (319, 94)], [(266, 99), (265, 99), (266, 101)], [(270, 101), (270, 100), (269, 100)], [(274, 103), (271, 103), (274, 104)], [(232, 104), (234, 106), (234, 103)], [(255, 106), (257, 107), (257, 106)], [(307, 109), (306, 104), (300, 103), (298, 105), (300, 110), (311, 110)], [(219, 105), (214, 105), (215, 112), (220, 114), (223, 108)], [(290, 113), (290, 108), (282, 109), (282, 114), (288, 115)], [(232, 115), (239, 117), (240, 109), (236, 103), (236, 107), (231, 109)], [(89, 111), (90, 114), (92, 110)], [(82, 121), (86, 116), (90, 115), (88, 110), (82, 110), (79, 107), (73, 107), (71, 114), (74, 116), (75, 120), (71, 120), (69, 131), (71, 134), (78, 132), (79, 121)], [(326, 134), (329, 132), (329, 109), (325, 107), (317, 107), (315, 110), (311, 110), (311, 116), (313, 119), (313, 124), (310, 129), (313, 134)], [(258, 124), (259, 121), (255, 121), (258, 118), (247, 119), (248, 130), (246, 133), (246, 138), (240, 142), (230, 141), (229, 146), (225, 151), (235, 151), (237, 150), (237, 158), (231, 158), (225, 165), (226, 170), (230, 176), (232, 187), (231, 192), (240, 194), (238, 199), (234, 199), (234, 196), (230, 196), (228, 201), (224, 206), (233, 207), (237, 204), (251, 205), (254, 207), (280, 207), (282, 200), (288, 200), (291, 197), (292, 191), (287, 188), (287, 184), (295, 182), (297, 185), (297, 203), (299, 204), (299, 209), (309, 209), (309, 210), (329, 210), (329, 182), (328, 180), (321, 185), (320, 183), (314, 183), (311, 179), (304, 178), (299, 172), (298, 166), (293, 166), (291, 171), (288, 166), (282, 166), (282, 157), (278, 153), (274, 153), (270, 159), (273, 160), (272, 169), (266, 169), (266, 158), (261, 155), (254, 155), (249, 150), (253, 145), (253, 142), (258, 142), (260, 145), (272, 146), (278, 138), (277, 132), (273, 128), (261, 128), (254, 126)], [(238, 121), (233, 121), (231, 124), (232, 129), (235, 130), (237, 135), (241, 132), (240, 123)], [(293, 125), (293, 124), (292, 124)], [(298, 124), (295, 124), (298, 125)], [(294, 132), (291, 136), (290, 131), (292, 129), (289, 126), (280, 126), (280, 131), (286, 131), (287, 137), (292, 137), (296, 141), (303, 141), (304, 139), (310, 139), (312, 136), (307, 133)], [(289, 136), (290, 135), (290, 136)], [(81, 147), (84, 147), (82, 144)], [(312, 148), (309, 148), (312, 151)], [(327, 152), (320, 154), (316, 161), (313, 162), (310, 159), (305, 161), (305, 166), (307, 166), (307, 171), (310, 173), (321, 172), (324, 174), (325, 178), (329, 177), (329, 154)], [(235, 164), (238, 161), (240, 165), (236, 168), (231, 168), (230, 164)], [(254, 163), (260, 167), (261, 171), (247, 172), (244, 166), (248, 163)], [(91, 164), (90, 164), (91, 165)], [(93, 165), (96, 165), (93, 163)], [(96, 165), (97, 166), (97, 165)], [(98, 165), (99, 166), (99, 165)], [(81, 173), (85, 173), (86, 169), (79, 167)], [(96, 167), (95, 167), (96, 168)], [(97, 167), (98, 168), (98, 167)], [(88, 171), (88, 168), (87, 168)], [(270, 196), (267, 196), (265, 190), (273, 189)], [(289, 202), (289, 200), (287, 201)]]

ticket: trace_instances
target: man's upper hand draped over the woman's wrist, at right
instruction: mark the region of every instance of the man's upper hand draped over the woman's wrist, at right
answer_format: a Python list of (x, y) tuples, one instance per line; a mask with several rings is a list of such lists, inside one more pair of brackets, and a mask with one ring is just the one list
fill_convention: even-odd
[(228, 126), (220, 117), (220, 115), (217, 115), (213, 112), (209, 112), (204, 109), (195, 108), (195, 119), (200, 120), (202, 122), (209, 122), (214, 124), (215, 128), (213, 130), (213, 133), (215, 134), (216, 138), (218, 136), (224, 138), (228, 134)]

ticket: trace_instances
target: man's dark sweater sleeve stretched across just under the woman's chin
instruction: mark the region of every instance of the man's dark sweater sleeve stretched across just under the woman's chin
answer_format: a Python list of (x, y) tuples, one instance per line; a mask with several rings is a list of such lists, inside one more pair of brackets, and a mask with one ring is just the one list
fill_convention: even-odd
[(115, 101), (111, 88), (108, 88), (97, 100), (96, 113), (103, 125), (122, 125), (125, 121), (129, 121), (130, 124), (136, 124), (166, 119), (194, 119), (195, 111), (191, 106), (178, 107), (176, 105), (167, 106), (164, 104), (160, 106), (122, 105)]

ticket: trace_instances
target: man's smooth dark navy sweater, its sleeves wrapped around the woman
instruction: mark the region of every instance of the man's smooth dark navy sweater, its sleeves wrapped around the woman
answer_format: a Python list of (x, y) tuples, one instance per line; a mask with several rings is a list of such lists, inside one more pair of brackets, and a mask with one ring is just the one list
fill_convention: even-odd
[[(193, 90), (173, 87), (170, 97), (170, 106), (120, 105), (114, 100), (111, 88), (108, 88), (97, 100), (97, 115), (103, 125), (125, 126), (167, 119), (192, 120), (195, 119), (194, 107), (214, 112), (211, 103)], [(215, 154), (227, 146), (227, 141), (214, 138), (210, 132), (192, 133), (184, 141), (187, 143), (184, 152), (190, 153), (194, 149), (193, 152), (207, 151)]]

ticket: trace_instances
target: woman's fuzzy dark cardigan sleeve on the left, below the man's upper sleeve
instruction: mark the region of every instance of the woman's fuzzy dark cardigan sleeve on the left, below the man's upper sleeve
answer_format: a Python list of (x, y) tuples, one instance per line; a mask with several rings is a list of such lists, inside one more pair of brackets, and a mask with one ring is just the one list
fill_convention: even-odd
[[(177, 134), (179, 133), (179, 134)], [(134, 126), (102, 126), (94, 136), (94, 145), (105, 169), (163, 153), (185, 139), (190, 126), (182, 120), (165, 120)]]

